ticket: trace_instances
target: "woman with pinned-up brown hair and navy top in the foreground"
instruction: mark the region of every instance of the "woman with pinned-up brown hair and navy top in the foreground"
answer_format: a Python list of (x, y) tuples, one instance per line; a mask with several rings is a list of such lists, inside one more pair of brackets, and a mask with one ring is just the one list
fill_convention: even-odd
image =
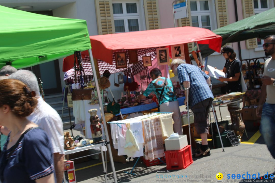
[(37, 105), (34, 96), (35, 92), (19, 80), (0, 81), (0, 125), (10, 129), (0, 156), (0, 180), (3, 183), (55, 182), (48, 137), (26, 119)]

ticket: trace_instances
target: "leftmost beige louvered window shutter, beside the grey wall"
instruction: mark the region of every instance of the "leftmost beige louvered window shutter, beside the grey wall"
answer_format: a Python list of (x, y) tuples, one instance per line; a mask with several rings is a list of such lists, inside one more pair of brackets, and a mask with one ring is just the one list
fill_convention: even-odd
[(115, 33), (111, 0), (95, 0), (98, 35)]

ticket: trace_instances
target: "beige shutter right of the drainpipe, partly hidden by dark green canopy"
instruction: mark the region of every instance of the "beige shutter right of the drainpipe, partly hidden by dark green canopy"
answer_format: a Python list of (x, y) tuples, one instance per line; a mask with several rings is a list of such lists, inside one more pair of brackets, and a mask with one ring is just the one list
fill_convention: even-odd
[[(254, 3), (253, 0), (242, 0), (243, 5), (243, 18), (248, 18), (254, 15)], [(246, 48), (257, 48), (257, 38), (246, 40)]]

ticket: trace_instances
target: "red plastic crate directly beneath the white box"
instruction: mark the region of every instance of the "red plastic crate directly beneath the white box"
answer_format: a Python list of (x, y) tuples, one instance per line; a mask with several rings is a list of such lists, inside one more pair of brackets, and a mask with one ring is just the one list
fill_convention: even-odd
[(184, 169), (193, 163), (191, 146), (181, 150), (165, 151), (167, 170)]

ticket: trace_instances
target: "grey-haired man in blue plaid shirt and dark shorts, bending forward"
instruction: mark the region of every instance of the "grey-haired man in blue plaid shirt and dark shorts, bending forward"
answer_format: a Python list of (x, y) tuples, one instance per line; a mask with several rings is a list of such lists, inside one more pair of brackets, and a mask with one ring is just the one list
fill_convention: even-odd
[[(202, 157), (210, 155), (210, 148), (207, 143), (208, 128), (208, 113), (213, 101), (213, 94), (209, 88), (211, 81), (210, 77), (205, 74), (197, 66), (186, 64), (185, 60), (174, 59), (170, 65), (175, 75), (178, 75), (180, 83), (184, 88), (189, 88), (188, 102), (194, 114), (194, 125), (202, 144), (200, 148), (195, 150), (194, 157)], [(185, 90), (185, 96), (187, 96)], [(184, 100), (187, 105), (187, 99)]]

